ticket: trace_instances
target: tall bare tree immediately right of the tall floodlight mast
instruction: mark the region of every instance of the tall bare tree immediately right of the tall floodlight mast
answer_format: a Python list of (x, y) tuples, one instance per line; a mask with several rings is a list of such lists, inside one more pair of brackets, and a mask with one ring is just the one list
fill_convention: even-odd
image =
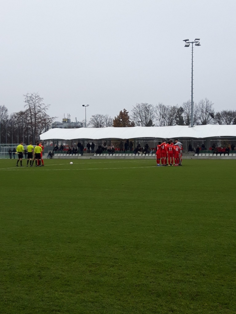
[(199, 124), (211, 124), (214, 119), (213, 103), (207, 98), (201, 99), (197, 106)]

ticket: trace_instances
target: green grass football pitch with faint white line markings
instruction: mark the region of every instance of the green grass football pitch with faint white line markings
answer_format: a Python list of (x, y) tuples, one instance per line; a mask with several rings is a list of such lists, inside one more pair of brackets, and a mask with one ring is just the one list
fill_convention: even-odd
[(1, 314), (236, 312), (236, 160), (70, 161), (0, 160)]

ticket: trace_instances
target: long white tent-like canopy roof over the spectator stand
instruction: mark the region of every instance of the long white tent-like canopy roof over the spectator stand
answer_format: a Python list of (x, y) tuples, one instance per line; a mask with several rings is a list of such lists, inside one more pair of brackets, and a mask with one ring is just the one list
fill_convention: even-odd
[(72, 140), (102, 138), (210, 138), (236, 137), (236, 125), (175, 125), (172, 127), (104, 127), (78, 129), (50, 129), (40, 135), (41, 140)]

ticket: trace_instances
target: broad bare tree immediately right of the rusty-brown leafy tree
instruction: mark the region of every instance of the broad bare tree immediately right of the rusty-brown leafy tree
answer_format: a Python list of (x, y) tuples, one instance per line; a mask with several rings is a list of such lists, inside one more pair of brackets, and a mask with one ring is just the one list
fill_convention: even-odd
[(140, 103), (133, 106), (132, 120), (139, 127), (153, 127), (155, 121), (154, 107), (148, 103)]

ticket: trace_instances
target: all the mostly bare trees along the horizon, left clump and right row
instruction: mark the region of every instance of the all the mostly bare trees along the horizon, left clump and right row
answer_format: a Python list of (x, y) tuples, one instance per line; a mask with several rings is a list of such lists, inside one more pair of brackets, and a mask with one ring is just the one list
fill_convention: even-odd
[[(0, 106), (0, 143), (25, 143), (33, 144), (39, 135), (52, 127), (56, 117), (48, 115), (50, 105), (43, 102), (38, 93), (23, 95), (24, 110), (9, 115), (6, 106)], [(236, 124), (235, 110), (222, 110), (215, 112), (213, 103), (207, 98), (194, 103), (193, 123), (204, 124)], [(108, 114), (95, 114), (91, 116), (88, 127), (164, 127), (173, 125), (191, 125), (191, 100), (182, 106), (167, 106), (159, 103), (153, 106), (149, 103), (138, 103), (133, 106), (131, 114), (124, 109), (112, 118)]]

